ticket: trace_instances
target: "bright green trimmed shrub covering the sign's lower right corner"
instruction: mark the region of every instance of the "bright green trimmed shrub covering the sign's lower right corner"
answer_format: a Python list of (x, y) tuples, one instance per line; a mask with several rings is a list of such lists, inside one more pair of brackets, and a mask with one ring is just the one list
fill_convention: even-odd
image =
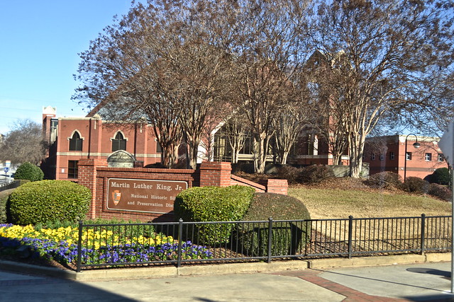
[[(238, 221), (249, 208), (252, 187), (191, 187), (180, 192), (175, 199), (175, 218), (184, 221)], [(233, 224), (195, 224), (197, 244), (226, 243)]]

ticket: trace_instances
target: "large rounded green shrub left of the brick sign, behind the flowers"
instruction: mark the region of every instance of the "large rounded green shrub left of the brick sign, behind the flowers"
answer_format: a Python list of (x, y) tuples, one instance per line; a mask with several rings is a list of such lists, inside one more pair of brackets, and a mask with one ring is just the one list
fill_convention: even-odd
[(68, 180), (42, 180), (18, 187), (9, 197), (11, 222), (79, 221), (89, 210), (92, 192)]

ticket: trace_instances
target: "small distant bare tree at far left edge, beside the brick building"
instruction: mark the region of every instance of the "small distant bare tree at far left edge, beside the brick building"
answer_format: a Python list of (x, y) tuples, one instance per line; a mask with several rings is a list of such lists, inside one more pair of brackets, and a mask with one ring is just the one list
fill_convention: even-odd
[(32, 120), (18, 120), (1, 144), (0, 161), (13, 164), (26, 161), (39, 165), (45, 157), (47, 143), (40, 124)]

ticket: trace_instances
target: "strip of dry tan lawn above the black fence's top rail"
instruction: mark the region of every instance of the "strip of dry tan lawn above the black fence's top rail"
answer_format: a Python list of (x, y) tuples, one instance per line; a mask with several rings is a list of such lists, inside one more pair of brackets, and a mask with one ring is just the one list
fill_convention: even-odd
[[(372, 190), (360, 182), (338, 180), (318, 186), (291, 186), (289, 195), (304, 203), (311, 219), (339, 219), (397, 216), (445, 216), (451, 205), (428, 195), (399, 190)], [(341, 183), (339, 183), (341, 182)]]

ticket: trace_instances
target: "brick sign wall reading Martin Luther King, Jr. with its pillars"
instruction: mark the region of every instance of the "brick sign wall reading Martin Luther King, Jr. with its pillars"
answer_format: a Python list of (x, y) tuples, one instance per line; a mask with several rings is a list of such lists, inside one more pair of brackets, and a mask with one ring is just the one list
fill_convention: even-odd
[(88, 219), (174, 221), (175, 197), (189, 187), (248, 185), (287, 194), (287, 180), (258, 185), (231, 175), (230, 163), (202, 163), (199, 170), (109, 168), (105, 160), (85, 158), (79, 160), (79, 184), (92, 190)]

